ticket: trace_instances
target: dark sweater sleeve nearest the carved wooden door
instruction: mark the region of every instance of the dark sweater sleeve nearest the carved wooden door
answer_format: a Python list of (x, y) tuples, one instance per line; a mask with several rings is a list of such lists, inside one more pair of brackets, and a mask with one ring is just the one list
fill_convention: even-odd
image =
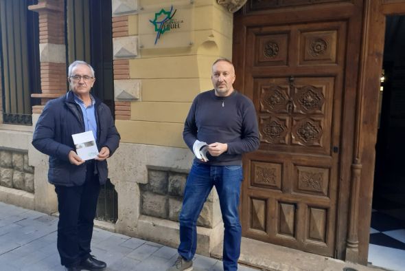
[(227, 143), (229, 154), (248, 153), (259, 148), (259, 129), (253, 102), (248, 100), (242, 110), (242, 135), (240, 140)]

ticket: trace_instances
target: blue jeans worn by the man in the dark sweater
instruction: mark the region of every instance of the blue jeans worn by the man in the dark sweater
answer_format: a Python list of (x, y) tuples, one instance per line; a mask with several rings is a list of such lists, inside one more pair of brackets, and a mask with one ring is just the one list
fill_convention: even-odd
[(178, 253), (190, 261), (197, 248), (197, 219), (212, 187), (216, 187), (224, 221), (225, 271), (238, 270), (242, 227), (239, 219), (242, 166), (210, 166), (194, 162), (185, 185), (180, 220)]

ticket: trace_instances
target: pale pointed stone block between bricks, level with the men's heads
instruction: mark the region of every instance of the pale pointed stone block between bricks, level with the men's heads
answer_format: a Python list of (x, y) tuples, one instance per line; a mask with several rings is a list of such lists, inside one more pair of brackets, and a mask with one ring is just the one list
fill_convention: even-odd
[(141, 80), (114, 80), (114, 100), (139, 100)]

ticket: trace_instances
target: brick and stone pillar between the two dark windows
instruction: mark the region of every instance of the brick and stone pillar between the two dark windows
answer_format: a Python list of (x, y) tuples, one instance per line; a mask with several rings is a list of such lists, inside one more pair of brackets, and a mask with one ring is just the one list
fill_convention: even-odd
[[(32, 94), (41, 99), (41, 105), (32, 107), (32, 124), (35, 127), (45, 103), (66, 93), (66, 45), (65, 45), (65, 1), (39, 0), (29, 6), (29, 10), (39, 14), (39, 51), (40, 51), (40, 94)], [(34, 172), (34, 209), (45, 213), (58, 210), (54, 186), (47, 182), (47, 155), (30, 145), (28, 147), (30, 166)]]

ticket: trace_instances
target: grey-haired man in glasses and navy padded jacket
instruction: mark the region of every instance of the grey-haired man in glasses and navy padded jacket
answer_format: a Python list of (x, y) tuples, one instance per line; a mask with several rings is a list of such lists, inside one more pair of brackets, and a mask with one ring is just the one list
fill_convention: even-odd
[[(50, 100), (36, 123), (32, 144), (49, 155), (48, 181), (58, 195), (58, 252), (67, 270), (103, 270), (104, 261), (90, 254), (93, 220), (100, 186), (108, 176), (106, 159), (118, 148), (119, 133), (110, 109), (90, 94), (94, 69), (84, 61), (71, 63), (70, 91)], [(99, 154), (82, 160), (72, 135), (91, 131)]]

